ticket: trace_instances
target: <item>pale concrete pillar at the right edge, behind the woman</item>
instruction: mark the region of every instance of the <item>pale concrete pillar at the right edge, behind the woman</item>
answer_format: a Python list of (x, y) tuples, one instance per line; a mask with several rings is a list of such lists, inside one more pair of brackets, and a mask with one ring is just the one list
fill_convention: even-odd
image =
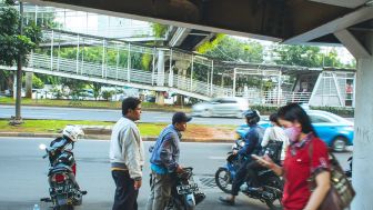
[[(365, 48), (373, 52), (373, 33)], [(357, 58), (352, 210), (372, 210), (373, 182), (373, 57)]]

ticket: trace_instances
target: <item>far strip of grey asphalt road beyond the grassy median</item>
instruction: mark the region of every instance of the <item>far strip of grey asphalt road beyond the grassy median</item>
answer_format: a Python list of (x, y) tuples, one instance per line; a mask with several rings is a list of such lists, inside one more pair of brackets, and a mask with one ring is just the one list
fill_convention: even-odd
[[(14, 116), (14, 106), (0, 106), (0, 118)], [(26, 107), (21, 109), (23, 119), (53, 119), (53, 120), (97, 120), (117, 121), (121, 116), (120, 110), (104, 109), (78, 109), (78, 108), (48, 108), (48, 107)], [(170, 123), (171, 112), (143, 111), (141, 122), (164, 122)], [(196, 124), (234, 124), (244, 123), (243, 119), (234, 118), (193, 118), (191, 123)]]

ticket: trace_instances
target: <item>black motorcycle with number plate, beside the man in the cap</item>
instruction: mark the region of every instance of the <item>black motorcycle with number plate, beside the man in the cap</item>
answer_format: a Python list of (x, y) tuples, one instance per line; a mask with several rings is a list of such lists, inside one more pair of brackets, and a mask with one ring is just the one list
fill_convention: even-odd
[(205, 194), (200, 191), (193, 180), (193, 168), (183, 168), (182, 173), (175, 173), (171, 189), (171, 199), (165, 210), (193, 210), (202, 202)]

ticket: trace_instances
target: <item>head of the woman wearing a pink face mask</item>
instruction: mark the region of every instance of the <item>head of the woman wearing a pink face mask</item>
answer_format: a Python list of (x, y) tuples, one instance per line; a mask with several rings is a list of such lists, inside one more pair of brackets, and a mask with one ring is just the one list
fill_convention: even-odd
[(278, 111), (278, 116), (280, 124), (286, 129), (291, 129), (291, 132), (295, 132), (296, 138), (299, 138), (300, 132), (304, 134), (313, 132), (313, 134), (316, 136), (310, 117), (298, 103), (281, 107)]

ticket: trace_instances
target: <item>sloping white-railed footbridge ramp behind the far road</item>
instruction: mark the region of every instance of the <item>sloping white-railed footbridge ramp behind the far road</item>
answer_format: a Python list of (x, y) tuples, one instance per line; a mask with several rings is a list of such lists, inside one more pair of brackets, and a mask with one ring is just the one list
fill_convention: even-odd
[[(43, 37), (43, 48), (29, 54), (24, 71), (174, 92), (201, 100), (232, 96), (233, 92), (232, 88), (222, 88), (213, 83), (211, 77), (214, 73), (214, 61), (201, 56), (63, 31), (46, 30)], [(92, 54), (87, 54), (88, 48), (100, 51), (95, 54), (99, 59), (90, 58)], [(147, 66), (139, 64), (144, 57), (149, 59)], [(180, 62), (183, 64), (179, 64)], [(188, 69), (189, 73), (184, 71), (185, 74), (178, 74), (175, 67), (179, 67), (179, 70)], [(0, 68), (16, 70), (16, 67)], [(195, 68), (204, 74), (204, 80), (193, 78)]]

